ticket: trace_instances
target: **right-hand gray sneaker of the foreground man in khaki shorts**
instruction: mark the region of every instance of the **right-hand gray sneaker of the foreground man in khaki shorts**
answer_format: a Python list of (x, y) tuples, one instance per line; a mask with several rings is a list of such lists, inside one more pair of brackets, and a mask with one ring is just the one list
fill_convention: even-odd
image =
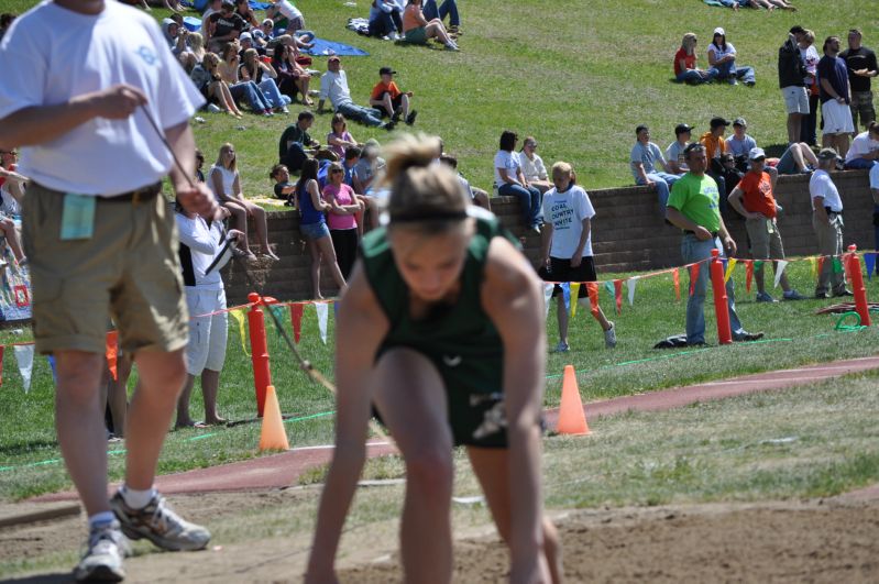
[(130, 539), (146, 538), (169, 551), (201, 550), (210, 541), (210, 531), (183, 519), (165, 504), (162, 495), (153, 497), (143, 509), (132, 509), (117, 492), (110, 499), (110, 508)]

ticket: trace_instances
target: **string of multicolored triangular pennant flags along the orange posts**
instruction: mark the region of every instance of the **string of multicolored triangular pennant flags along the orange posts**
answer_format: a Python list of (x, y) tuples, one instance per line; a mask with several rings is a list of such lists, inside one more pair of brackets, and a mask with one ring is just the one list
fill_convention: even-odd
[[(854, 253), (855, 255), (860, 256), (864, 262), (864, 266), (867, 272), (867, 277), (872, 278), (872, 274), (877, 268), (877, 255), (879, 252), (847, 252)], [(754, 272), (758, 269), (763, 263), (773, 262), (772, 260), (737, 260), (735, 257), (732, 258), (723, 258), (722, 260), (725, 267), (724, 267), (724, 280), (728, 282), (729, 278), (733, 276), (733, 272), (738, 265), (745, 266), (745, 287), (748, 294), (751, 291), (751, 284), (754, 280)], [(817, 277), (821, 271), (824, 267), (825, 262), (831, 261), (833, 262), (833, 272), (836, 274), (846, 273), (846, 277), (848, 277), (846, 265), (840, 260), (839, 256), (832, 256), (832, 255), (814, 255), (809, 257), (801, 257), (796, 260), (776, 260), (776, 275), (774, 275), (774, 283), (773, 286), (777, 288), (781, 280), (781, 275), (784, 273), (784, 269), (792, 263), (802, 263), (809, 262), (811, 265), (811, 273), (812, 277)], [(543, 286), (543, 297), (546, 300), (546, 310), (547, 315), (549, 315), (549, 300), (552, 297), (552, 290), (554, 286), (560, 286), (562, 288), (562, 297), (564, 301), (564, 306), (567, 309), (570, 310), (571, 317), (576, 316), (576, 305), (578, 302), (571, 302), (571, 298), (578, 298), (580, 293), (581, 286), (586, 286), (590, 308), (591, 311), (594, 313), (597, 311), (600, 306), (600, 290), (604, 288), (606, 294), (611, 297), (614, 308), (617, 313), (623, 311), (623, 288), (626, 288), (626, 296), (629, 306), (635, 305), (635, 290), (639, 282), (659, 277), (664, 275), (671, 275), (672, 286), (674, 289), (674, 298), (675, 300), (681, 300), (681, 279), (680, 279), (680, 272), (681, 269), (689, 269), (690, 271), (690, 290), (689, 294), (692, 296), (693, 294), (693, 286), (695, 280), (699, 276), (701, 269), (706, 269), (707, 264), (711, 262), (711, 258), (705, 258), (699, 262), (693, 262), (691, 264), (685, 264), (682, 266), (670, 267), (666, 269), (659, 269), (656, 272), (650, 272), (647, 274), (639, 274), (637, 276), (630, 276), (628, 278), (617, 278), (617, 279), (608, 279), (608, 280), (596, 280), (596, 282), (545, 282)], [(284, 315), (283, 311), (287, 309), (289, 311), (289, 319), (290, 324), (293, 327), (293, 335), (296, 343), (301, 341), (301, 327), (303, 327), (303, 317), (305, 315), (305, 309), (308, 306), (315, 307), (315, 312), (317, 316), (318, 321), (318, 332), (320, 335), (320, 340), (323, 344), (327, 344), (327, 328), (329, 322), (329, 307), (330, 305), (333, 306), (333, 312), (338, 310), (338, 305), (334, 300), (307, 300), (307, 301), (296, 301), (296, 302), (266, 302), (263, 304), (261, 301), (257, 302), (248, 302), (244, 305), (238, 305), (230, 308), (226, 308), (222, 310), (217, 310), (213, 312), (207, 312), (205, 315), (195, 315), (191, 316), (191, 319), (197, 318), (208, 318), (220, 313), (229, 313), (230, 317), (238, 323), (239, 329), (239, 337), (241, 339), (241, 346), (244, 350), (244, 353), (250, 356), (250, 352), (248, 351), (246, 346), (246, 338), (248, 338), (248, 326), (246, 326), (246, 317), (245, 313), (255, 306), (262, 306), (270, 310), (272, 310), (275, 316), (281, 320)], [(107, 348), (106, 348), (106, 356), (107, 356), (107, 364), (108, 368), (110, 370), (110, 374), (112, 375), (113, 379), (117, 378), (117, 360), (118, 360), (118, 332), (117, 331), (109, 331), (107, 333)], [(24, 387), (24, 392), (30, 392), (31, 388), (31, 378), (33, 376), (33, 361), (34, 361), (34, 343), (33, 341), (25, 341), (20, 343), (7, 343), (0, 344), (0, 385), (3, 383), (3, 356), (6, 354), (7, 348), (12, 348), (13, 353), (15, 355), (15, 363), (18, 365), (19, 373), (22, 377), (22, 384)], [(50, 364), (50, 368), (52, 370), (53, 378), (56, 377), (55, 372), (55, 363), (52, 355), (47, 356), (47, 361)]]

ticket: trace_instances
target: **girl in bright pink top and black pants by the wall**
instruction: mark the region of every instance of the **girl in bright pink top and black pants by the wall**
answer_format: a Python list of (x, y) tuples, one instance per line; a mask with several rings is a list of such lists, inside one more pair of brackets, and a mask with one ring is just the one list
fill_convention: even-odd
[(323, 200), (330, 206), (327, 224), (339, 271), (348, 280), (358, 256), (358, 214), (363, 213), (365, 203), (358, 200), (354, 189), (344, 184), (344, 168), (341, 164), (330, 164), (327, 176), (329, 183), (323, 187)]

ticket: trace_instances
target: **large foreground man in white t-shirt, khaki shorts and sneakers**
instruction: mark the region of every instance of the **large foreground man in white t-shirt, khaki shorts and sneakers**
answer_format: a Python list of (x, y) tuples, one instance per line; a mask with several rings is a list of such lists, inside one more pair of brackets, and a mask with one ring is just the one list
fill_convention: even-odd
[[(55, 357), (58, 442), (89, 516), (74, 575), (116, 582), (124, 576), (123, 532), (169, 550), (210, 540), (153, 486), (186, 376), (188, 329), (174, 218), (160, 191), (171, 170), (184, 207), (218, 212), (207, 188), (189, 179), (189, 118), (204, 99), (156, 22), (119, 2), (39, 4), (0, 43), (0, 148), (21, 146), (21, 170), (32, 179), (22, 224), (34, 340)], [(111, 317), (140, 384), (125, 426), (124, 483), (108, 502), (99, 384)]]

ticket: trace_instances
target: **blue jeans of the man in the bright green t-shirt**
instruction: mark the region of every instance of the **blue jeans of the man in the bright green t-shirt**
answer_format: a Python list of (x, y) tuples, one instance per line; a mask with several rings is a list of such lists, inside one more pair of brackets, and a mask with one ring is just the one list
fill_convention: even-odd
[[(685, 264), (692, 264), (711, 257), (711, 251), (717, 249), (721, 251), (721, 257), (724, 256), (723, 244), (719, 238), (713, 240), (700, 241), (695, 235), (686, 233), (681, 240), (681, 255)], [(711, 275), (711, 262), (703, 262), (699, 264), (699, 274), (696, 275), (695, 284), (693, 287), (693, 295), (686, 300), (686, 342), (704, 343), (705, 342), (705, 291), (708, 288), (708, 278)], [(692, 278), (692, 272), (690, 273)], [(745, 334), (745, 329), (738, 320), (736, 313), (736, 297), (735, 286), (733, 278), (726, 283), (726, 298), (729, 309), (729, 330), (733, 333), (734, 340), (740, 340)]]

